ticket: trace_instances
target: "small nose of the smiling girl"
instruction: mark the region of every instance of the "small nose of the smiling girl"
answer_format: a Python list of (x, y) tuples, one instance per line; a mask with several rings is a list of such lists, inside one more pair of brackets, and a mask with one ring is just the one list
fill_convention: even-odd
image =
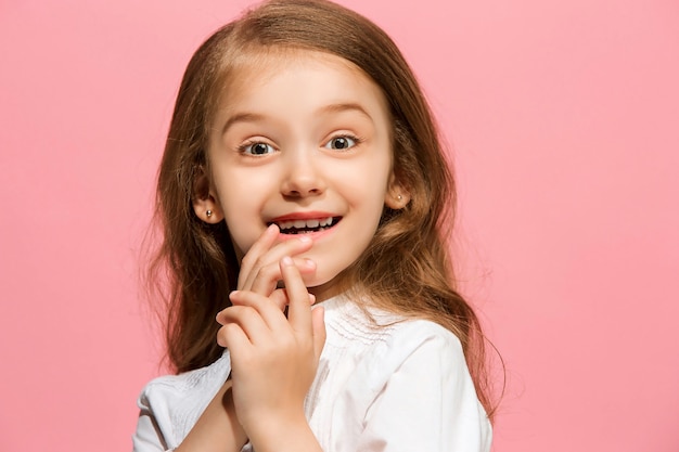
[(285, 175), (281, 193), (286, 197), (306, 197), (322, 194), (325, 189), (323, 168), (316, 150), (291, 151), (285, 156)]

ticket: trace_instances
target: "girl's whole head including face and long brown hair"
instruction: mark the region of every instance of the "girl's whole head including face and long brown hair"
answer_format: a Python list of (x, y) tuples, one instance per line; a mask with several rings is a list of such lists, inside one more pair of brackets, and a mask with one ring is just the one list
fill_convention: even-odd
[(383, 30), (328, 1), (246, 13), (189, 63), (161, 166), (170, 360), (182, 371), (219, 354), (214, 318), (271, 222), (336, 224), (305, 255), (321, 296), (342, 284), (444, 324), (469, 349), (477, 322), (451, 286), (444, 238), (453, 205), (424, 95)]

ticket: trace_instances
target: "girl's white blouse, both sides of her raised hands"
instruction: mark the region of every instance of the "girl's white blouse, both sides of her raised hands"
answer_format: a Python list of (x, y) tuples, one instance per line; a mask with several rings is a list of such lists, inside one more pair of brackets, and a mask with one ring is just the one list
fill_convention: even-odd
[[(377, 326), (342, 296), (322, 305), (326, 339), (305, 413), (323, 451), (490, 450), (490, 423), (457, 336), (434, 322), (395, 323), (371, 311)], [(207, 367), (149, 383), (134, 451), (177, 448), (230, 371), (225, 351)]]

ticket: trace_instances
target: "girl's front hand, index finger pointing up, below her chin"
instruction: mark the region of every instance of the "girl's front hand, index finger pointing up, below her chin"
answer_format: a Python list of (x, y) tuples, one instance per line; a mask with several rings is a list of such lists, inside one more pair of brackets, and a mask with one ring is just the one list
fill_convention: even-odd
[(253, 290), (232, 293), (233, 306), (217, 317), (218, 343), (231, 352), (236, 416), (253, 444), (281, 425), (306, 423), (304, 399), (325, 341), (323, 310), (311, 310), (295, 261), (283, 257), (279, 272), (287, 319), (277, 300)]

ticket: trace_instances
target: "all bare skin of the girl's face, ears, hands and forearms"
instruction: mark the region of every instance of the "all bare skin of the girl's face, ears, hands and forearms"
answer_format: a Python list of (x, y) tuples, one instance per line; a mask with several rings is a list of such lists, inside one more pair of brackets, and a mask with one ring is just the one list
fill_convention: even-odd
[[(380, 88), (334, 55), (267, 59), (226, 87), (203, 176), (209, 193), (193, 199), (203, 221), (227, 221), (242, 261), (233, 306), (217, 317), (231, 379), (182, 452), (238, 451), (248, 439), (258, 452), (321, 450), (304, 414), (325, 340), (323, 308), (311, 305), (336, 294), (384, 206), (409, 201), (392, 171)], [(328, 217), (335, 220), (324, 230), (285, 231), (291, 221)]]

